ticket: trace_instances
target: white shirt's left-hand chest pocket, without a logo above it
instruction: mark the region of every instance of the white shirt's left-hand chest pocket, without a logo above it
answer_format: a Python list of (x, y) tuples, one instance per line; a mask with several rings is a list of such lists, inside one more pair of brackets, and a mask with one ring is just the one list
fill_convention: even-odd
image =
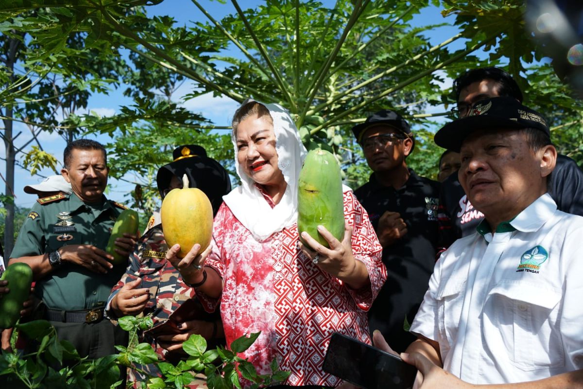
[[(440, 339), (447, 338), (449, 345), (453, 344), (458, 337), (465, 288), (465, 278), (452, 277), (447, 282), (442, 283), (437, 290), (438, 331)], [(447, 352), (447, 350), (442, 350), (442, 355), (444, 352)]]

